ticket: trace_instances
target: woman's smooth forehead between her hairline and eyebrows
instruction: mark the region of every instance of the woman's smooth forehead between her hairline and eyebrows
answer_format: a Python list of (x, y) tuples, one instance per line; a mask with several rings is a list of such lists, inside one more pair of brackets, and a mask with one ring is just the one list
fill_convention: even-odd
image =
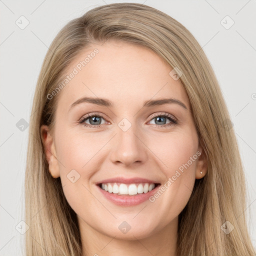
[(66, 110), (82, 96), (107, 98), (113, 105), (174, 97), (187, 106), (189, 100), (180, 80), (152, 50), (121, 41), (91, 44), (80, 51), (65, 72), (66, 83), (57, 105)]

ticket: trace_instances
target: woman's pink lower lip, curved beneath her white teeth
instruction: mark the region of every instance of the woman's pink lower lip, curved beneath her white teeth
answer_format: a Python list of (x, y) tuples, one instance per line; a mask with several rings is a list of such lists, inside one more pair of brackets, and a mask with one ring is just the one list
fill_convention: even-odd
[(155, 186), (154, 189), (152, 189), (147, 193), (141, 193), (141, 194), (135, 194), (135, 195), (119, 195), (119, 194), (109, 193), (97, 185), (98, 189), (109, 201), (119, 206), (133, 206), (146, 201), (151, 195), (155, 193), (155, 191), (158, 189), (158, 186), (159, 185)]

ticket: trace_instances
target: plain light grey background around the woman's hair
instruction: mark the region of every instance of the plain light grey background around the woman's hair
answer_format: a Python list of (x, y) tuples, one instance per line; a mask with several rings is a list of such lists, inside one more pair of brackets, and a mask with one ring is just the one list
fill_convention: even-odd
[[(29, 123), (35, 84), (48, 46), (69, 20), (93, 7), (112, 2), (122, 1), (0, 0), (1, 256), (21, 255), (24, 235), (20, 234), (18, 227), (25, 228), (23, 222), (19, 223), (23, 219), (28, 138), (25, 124)], [(131, 2), (147, 4), (177, 19), (206, 53), (221, 86), (239, 144), (248, 189), (247, 208), (244, 210), (256, 246), (256, 1)], [(25, 18), (20, 18), (22, 15)], [(226, 15), (234, 21), (231, 27), (232, 21)], [(26, 19), (29, 24), (21, 29)]]

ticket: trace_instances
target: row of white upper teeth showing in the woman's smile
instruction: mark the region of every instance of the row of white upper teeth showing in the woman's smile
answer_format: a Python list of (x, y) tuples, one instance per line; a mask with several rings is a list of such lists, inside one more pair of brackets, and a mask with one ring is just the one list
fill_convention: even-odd
[(101, 188), (105, 191), (108, 191), (109, 193), (114, 194), (128, 194), (128, 195), (135, 195), (135, 194), (141, 194), (141, 193), (147, 193), (154, 189), (155, 184), (154, 183), (132, 183), (132, 184), (124, 184), (120, 183), (117, 185), (116, 183), (102, 183)]

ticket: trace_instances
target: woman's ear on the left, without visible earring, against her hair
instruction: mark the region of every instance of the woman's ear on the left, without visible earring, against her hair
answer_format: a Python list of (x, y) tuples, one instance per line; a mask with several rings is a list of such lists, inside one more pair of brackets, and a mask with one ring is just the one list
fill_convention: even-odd
[(46, 160), (49, 164), (49, 172), (53, 178), (57, 178), (60, 176), (57, 154), (53, 137), (50, 134), (47, 125), (42, 125), (40, 127), (40, 135), (46, 155)]

